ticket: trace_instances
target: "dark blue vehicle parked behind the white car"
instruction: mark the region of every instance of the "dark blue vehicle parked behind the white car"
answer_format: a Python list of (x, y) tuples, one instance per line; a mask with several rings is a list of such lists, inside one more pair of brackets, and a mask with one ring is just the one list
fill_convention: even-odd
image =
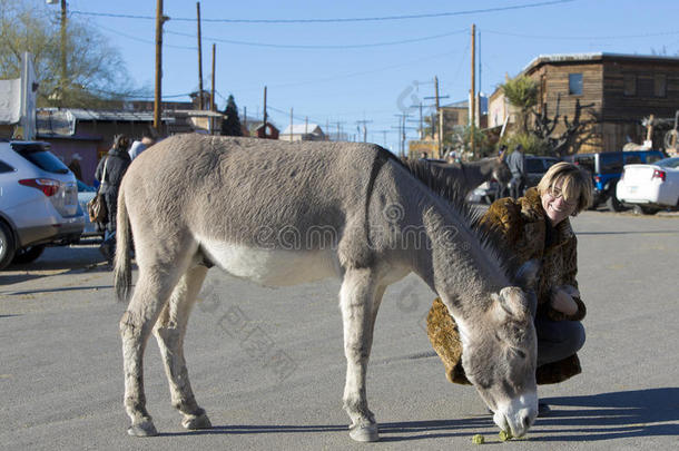
[(636, 163), (653, 163), (665, 158), (660, 150), (601, 151), (597, 154), (575, 154), (567, 157), (589, 170), (594, 186), (592, 207), (606, 205), (611, 212), (620, 212), (624, 206), (616, 197), (616, 186), (622, 175), (622, 167)]

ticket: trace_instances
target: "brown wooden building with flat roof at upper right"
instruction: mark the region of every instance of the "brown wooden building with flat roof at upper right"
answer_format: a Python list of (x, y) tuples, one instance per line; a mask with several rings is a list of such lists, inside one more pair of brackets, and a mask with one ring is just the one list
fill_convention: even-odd
[[(643, 118), (673, 117), (679, 109), (679, 58), (619, 53), (540, 56), (522, 71), (539, 85), (538, 111), (573, 119), (577, 101), (591, 105), (599, 118), (591, 138), (575, 151), (621, 150), (627, 143), (646, 139)], [(493, 110), (493, 108), (491, 108)], [(583, 119), (589, 115), (583, 110)], [(498, 116), (496, 110), (492, 116)], [(493, 117), (493, 121), (500, 118)], [(501, 119), (503, 120), (503, 118)], [(560, 128), (563, 129), (561, 121)], [(653, 147), (661, 147), (661, 135)]]

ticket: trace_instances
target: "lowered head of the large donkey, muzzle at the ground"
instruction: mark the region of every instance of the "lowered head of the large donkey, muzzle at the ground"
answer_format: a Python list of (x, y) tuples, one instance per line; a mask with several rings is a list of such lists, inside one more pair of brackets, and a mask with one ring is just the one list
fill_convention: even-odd
[[(529, 286), (538, 265), (520, 269), (522, 286)], [(533, 325), (537, 298), (532, 291), (504, 287), (491, 295), (483, 313), (483, 327), (461, 327), (462, 366), (503, 431), (523, 435), (538, 415), (535, 362), (538, 340)]]

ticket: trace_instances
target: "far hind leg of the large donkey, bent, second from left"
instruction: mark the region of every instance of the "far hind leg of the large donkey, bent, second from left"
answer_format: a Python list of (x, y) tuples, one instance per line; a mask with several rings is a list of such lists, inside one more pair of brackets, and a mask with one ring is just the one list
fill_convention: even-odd
[(169, 382), (173, 405), (184, 415), (181, 425), (188, 430), (211, 428), (205, 410), (196, 403), (184, 359), (186, 325), (206, 274), (205, 266), (195, 266), (186, 272), (154, 327)]

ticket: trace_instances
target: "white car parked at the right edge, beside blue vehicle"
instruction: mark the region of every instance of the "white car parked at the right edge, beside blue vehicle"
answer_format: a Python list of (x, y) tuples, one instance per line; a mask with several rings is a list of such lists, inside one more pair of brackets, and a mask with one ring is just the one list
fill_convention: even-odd
[(626, 165), (616, 196), (643, 213), (679, 208), (679, 157), (649, 165)]

